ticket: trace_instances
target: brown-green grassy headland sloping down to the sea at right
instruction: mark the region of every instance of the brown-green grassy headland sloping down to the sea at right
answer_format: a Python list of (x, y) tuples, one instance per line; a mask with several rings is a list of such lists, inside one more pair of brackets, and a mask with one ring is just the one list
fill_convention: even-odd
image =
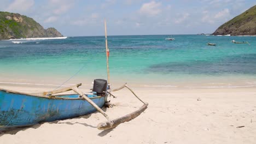
[(256, 35), (256, 5), (220, 26), (213, 35)]

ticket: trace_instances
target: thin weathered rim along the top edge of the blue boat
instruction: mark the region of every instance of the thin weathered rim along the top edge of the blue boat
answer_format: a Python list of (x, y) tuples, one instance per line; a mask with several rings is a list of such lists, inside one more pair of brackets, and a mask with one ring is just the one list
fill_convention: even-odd
[[(61, 98), (62, 96), (65, 96), (65, 95), (79, 95), (79, 94), (56, 94), (56, 95), (51, 95), (51, 96), (54, 96), (54, 97), (49, 97), (49, 96), (46, 96), (46, 95), (33, 95), (33, 94), (30, 94), (30, 93), (11, 91), (9, 89), (4, 89), (4, 88), (0, 88), (0, 91), (7, 92), (7, 93), (13, 93), (13, 94), (22, 94), (22, 95), (27, 95), (27, 96), (30, 96), (30, 97), (47, 98), (47, 99), (84, 100), (84, 98)], [(97, 99), (97, 98), (102, 98), (102, 96), (88, 97), (88, 98)]]

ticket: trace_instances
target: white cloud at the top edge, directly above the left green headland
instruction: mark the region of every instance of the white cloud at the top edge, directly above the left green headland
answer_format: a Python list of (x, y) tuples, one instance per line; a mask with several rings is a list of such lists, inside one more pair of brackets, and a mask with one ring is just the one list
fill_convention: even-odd
[(5, 10), (10, 12), (15, 12), (15, 13), (25, 12), (29, 10), (33, 5), (34, 5), (33, 0), (15, 0)]

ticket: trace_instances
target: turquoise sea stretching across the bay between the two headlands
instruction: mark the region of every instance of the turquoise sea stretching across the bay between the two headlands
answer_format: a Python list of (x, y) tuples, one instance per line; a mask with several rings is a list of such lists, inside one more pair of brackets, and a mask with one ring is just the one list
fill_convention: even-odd
[[(256, 37), (109, 36), (110, 83), (134, 87), (256, 87)], [(231, 40), (248, 41), (234, 44)], [(207, 43), (217, 46), (208, 46)], [(103, 36), (1, 40), (0, 84), (66, 85), (107, 79)], [(88, 84), (86, 84), (88, 83)]]

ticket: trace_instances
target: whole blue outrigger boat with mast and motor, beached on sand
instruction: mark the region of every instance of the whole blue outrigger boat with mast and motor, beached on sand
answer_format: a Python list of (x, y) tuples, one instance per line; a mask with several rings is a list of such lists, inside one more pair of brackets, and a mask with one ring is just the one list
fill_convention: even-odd
[[(105, 130), (130, 121), (146, 110), (148, 103), (142, 101), (126, 84), (117, 89), (110, 89), (106, 21), (105, 38), (108, 81), (102, 79), (94, 80), (92, 92), (89, 93), (83, 93), (78, 89), (82, 83), (41, 93), (22, 93), (0, 88), (0, 129), (51, 122), (99, 111), (106, 117), (107, 121), (98, 124), (97, 128)], [(125, 87), (141, 100), (143, 105), (140, 109), (128, 115), (110, 119), (101, 107), (109, 104), (107, 98), (114, 97), (111, 94), (112, 92), (119, 91)], [(58, 94), (67, 91), (74, 91), (76, 94)]]

